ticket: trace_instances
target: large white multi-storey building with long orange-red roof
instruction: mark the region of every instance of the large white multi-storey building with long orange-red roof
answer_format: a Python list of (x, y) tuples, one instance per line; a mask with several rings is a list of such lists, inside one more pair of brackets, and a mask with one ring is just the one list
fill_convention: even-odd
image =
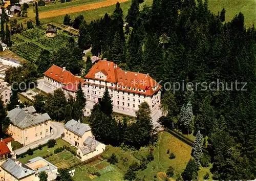
[(108, 86), (116, 112), (135, 116), (139, 105), (145, 101), (152, 115), (160, 108), (161, 86), (148, 74), (120, 69), (114, 62), (99, 60), (86, 75), (83, 84), (87, 101), (97, 103)]

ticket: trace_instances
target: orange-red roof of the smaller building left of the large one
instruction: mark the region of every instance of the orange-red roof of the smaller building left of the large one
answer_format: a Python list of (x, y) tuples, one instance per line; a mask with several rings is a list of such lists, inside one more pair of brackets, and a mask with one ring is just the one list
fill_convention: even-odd
[(54, 79), (60, 83), (63, 83), (64, 85), (68, 85), (70, 83), (79, 83), (84, 82), (84, 79), (78, 78), (74, 76), (69, 71), (63, 70), (61, 67), (52, 65), (50, 69), (48, 69), (45, 73), (45, 76)]

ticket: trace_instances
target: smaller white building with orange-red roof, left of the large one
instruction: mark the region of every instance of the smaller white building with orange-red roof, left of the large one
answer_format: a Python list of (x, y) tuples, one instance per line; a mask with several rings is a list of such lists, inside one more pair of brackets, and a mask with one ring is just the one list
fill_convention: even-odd
[(83, 83), (84, 79), (67, 71), (66, 67), (61, 68), (57, 65), (52, 65), (50, 69), (44, 73), (44, 86), (50, 88), (50, 90), (52, 90), (50, 92), (58, 88), (63, 88), (66, 95), (75, 97), (79, 82)]

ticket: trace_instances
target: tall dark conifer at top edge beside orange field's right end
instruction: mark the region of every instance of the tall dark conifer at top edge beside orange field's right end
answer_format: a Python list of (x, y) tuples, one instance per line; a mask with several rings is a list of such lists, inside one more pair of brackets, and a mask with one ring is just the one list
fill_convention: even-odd
[(138, 0), (132, 0), (131, 7), (128, 10), (128, 14), (126, 16), (126, 22), (128, 22), (129, 27), (134, 27), (134, 24), (139, 15), (139, 2)]

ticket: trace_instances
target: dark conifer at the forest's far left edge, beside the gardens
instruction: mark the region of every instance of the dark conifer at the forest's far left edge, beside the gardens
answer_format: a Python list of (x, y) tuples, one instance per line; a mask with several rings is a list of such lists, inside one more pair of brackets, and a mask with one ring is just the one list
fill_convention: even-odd
[(86, 21), (82, 21), (79, 27), (78, 45), (82, 50), (87, 50), (91, 47), (91, 36)]

